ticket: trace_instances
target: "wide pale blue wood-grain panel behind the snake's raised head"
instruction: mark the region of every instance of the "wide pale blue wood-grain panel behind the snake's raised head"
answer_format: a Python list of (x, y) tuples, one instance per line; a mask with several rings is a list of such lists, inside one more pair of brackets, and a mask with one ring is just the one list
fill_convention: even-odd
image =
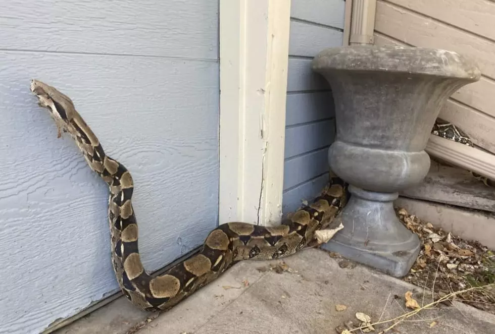
[(218, 2), (11, 0), (0, 20), (0, 333), (118, 290), (108, 190), (29, 91), (69, 95), (131, 171), (147, 270), (218, 223)]

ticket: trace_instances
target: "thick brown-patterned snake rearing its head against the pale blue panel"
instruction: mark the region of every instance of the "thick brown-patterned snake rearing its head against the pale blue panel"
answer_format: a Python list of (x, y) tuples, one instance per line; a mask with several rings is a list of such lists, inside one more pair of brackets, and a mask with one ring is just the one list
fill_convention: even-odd
[[(57, 125), (57, 137), (68, 133), (89, 168), (107, 183), (111, 261), (120, 290), (145, 311), (166, 311), (211, 283), (243, 260), (272, 260), (328, 241), (343, 226), (329, 229), (348, 201), (348, 184), (329, 171), (329, 182), (310, 204), (281, 219), (279, 225), (261, 226), (226, 222), (213, 229), (199, 252), (161, 274), (146, 271), (138, 249), (138, 225), (132, 206), (134, 182), (130, 171), (108, 156), (72, 100), (55, 87), (32, 79), (31, 92), (48, 109)], [(338, 221), (338, 220), (337, 220)], [(326, 235), (324, 232), (329, 232)]]

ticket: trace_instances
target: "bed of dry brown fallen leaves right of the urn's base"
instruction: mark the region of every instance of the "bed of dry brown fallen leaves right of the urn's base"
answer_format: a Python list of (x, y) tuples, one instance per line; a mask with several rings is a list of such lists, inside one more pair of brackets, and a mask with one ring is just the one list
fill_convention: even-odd
[[(404, 281), (443, 297), (470, 287), (495, 283), (495, 253), (477, 241), (468, 241), (435, 228), (404, 208), (397, 214), (403, 224), (421, 240), (421, 251)], [(432, 300), (432, 296), (429, 296)], [(495, 289), (468, 290), (456, 295), (462, 301), (495, 314)]]

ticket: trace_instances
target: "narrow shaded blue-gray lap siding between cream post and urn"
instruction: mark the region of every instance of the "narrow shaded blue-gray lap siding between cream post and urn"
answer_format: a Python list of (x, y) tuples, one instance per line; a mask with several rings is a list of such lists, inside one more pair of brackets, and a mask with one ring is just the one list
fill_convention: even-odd
[(310, 67), (321, 50), (342, 45), (344, 0), (292, 0), (282, 213), (311, 200), (328, 181), (334, 139), (333, 97)]

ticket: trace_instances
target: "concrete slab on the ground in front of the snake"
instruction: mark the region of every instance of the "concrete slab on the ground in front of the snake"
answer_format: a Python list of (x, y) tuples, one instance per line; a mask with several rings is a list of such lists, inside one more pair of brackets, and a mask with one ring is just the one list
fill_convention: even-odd
[[(329, 253), (319, 249), (285, 259), (297, 272), (266, 270), (269, 264), (277, 263), (280, 261), (238, 263), (158, 317), (119, 298), (57, 333), (329, 334), (336, 333), (334, 328), (345, 321), (357, 324), (356, 312), (368, 314), (372, 322), (382, 313), (382, 320), (403, 314), (407, 291), (417, 292), (421, 304), (420, 288), (362, 265), (340, 267)], [(394, 295), (400, 298), (394, 299)], [(430, 301), (428, 296), (425, 304)], [(337, 312), (336, 304), (347, 309)], [(457, 302), (450, 308), (426, 310), (420, 316), (424, 321), (415, 317), (411, 319), (416, 321), (395, 328), (402, 334), (495, 332), (495, 316)], [(146, 321), (146, 317), (154, 319)], [(433, 320), (428, 319), (436, 317), (437, 324), (430, 328)], [(383, 328), (376, 326), (375, 332)]]

